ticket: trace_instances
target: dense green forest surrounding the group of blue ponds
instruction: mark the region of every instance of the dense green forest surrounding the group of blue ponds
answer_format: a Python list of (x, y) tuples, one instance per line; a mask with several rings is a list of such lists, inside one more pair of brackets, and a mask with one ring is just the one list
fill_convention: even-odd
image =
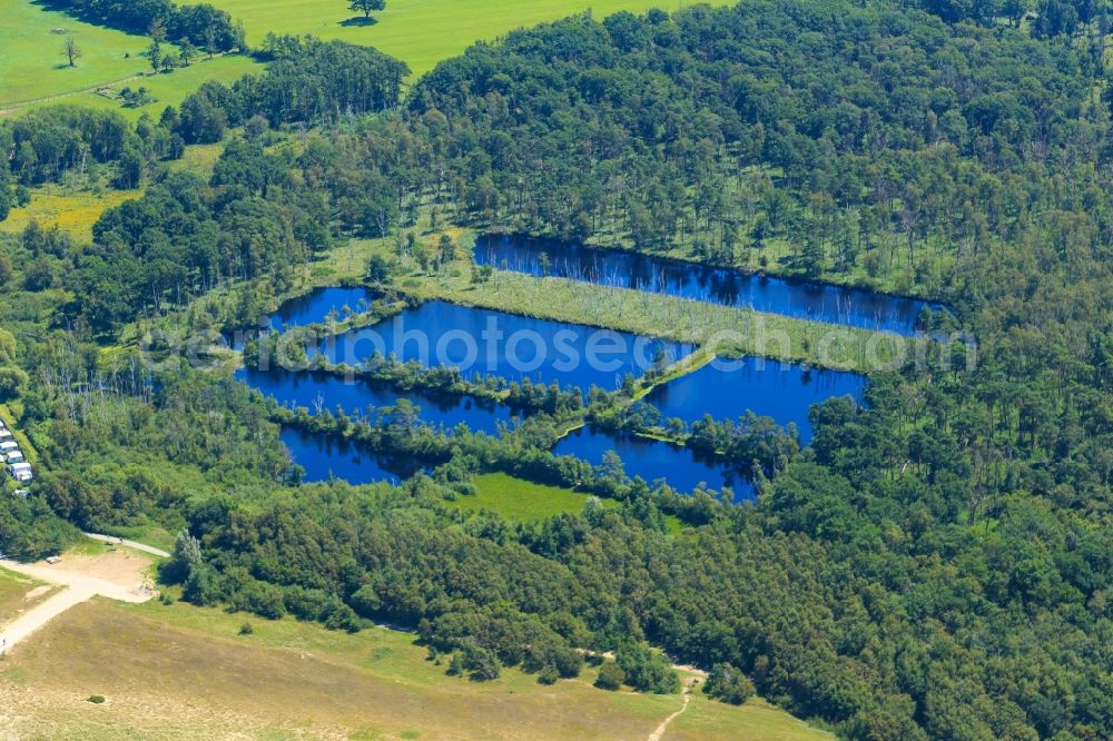
[[(408, 625), (479, 679), (500, 663), (570, 676), (575, 649), (614, 650), (629, 684), (670, 691), (653, 645), (716, 668), (725, 698), (743, 674), (845, 738), (1110, 738), (1102, 19), (1053, 34), (838, 0), (582, 17), (479, 45), (404, 98), (392, 60), (285, 40), (264, 77), (136, 130), (66, 109), (6, 122), (12, 201), (73, 168), (120, 177), (128, 151), (146, 191), (90, 245), (38, 227), (2, 244), (0, 365), (22, 374), (3, 401), (45, 471), (4, 498), (0, 546), (40, 555), (72, 525), (188, 531), (164, 573), (186, 599)], [(169, 171), (175, 137), (227, 139), (208, 180)], [(978, 363), (876, 374), (865, 406), (815, 407), (812, 443), (758, 454), (776, 464), (737, 506), (554, 463), (553, 421), (577, 411), (559, 389), (513, 434), (450, 439), (405, 408), (309, 417), (227, 370), (105, 347), (139, 317), (247, 323), (336, 241), (398, 235), (405, 251), (431, 211), (718, 264), (779, 240), (768, 269), (867, 285), (899, 267), (976, 333)], [(203, 295), (228, 305), (214, 318)], [(433, 475), (299, 485), (279, 421), (421, 448)], [(588, 482), (620, 506), (528, 525), (445, 506), (485, 470)]]

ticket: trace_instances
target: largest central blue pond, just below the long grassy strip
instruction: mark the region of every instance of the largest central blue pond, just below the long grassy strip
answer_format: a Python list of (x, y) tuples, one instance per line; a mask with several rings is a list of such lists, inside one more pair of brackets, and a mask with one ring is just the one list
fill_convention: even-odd
[(377, 350), (426, 366), (455, 366), (467, 378), (528, 377), (583, 391), (614, 389), (626, 374), (642, 375), (659, 349), (674, 362), (695, 346), (446, 302), (427, 302), (318, 347), (333, 363), (356, 365)]

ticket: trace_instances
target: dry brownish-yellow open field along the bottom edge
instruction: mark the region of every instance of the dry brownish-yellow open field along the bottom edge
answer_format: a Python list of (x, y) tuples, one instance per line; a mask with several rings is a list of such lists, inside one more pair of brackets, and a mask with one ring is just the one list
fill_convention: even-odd
[[(157, 602), (95, 601), (58, 618), (0, 664), (0, 730), (19, 738), (646, 739), (677, 695), (539, 685), (508, 670), (479, 684), (444, 675), (413, 636), (355, 635)], [(100, 705), (87, 699), (100, 694)], [(699, 730), (668, 739), (826, 738), (760, 703), (693, 696)], [(752, 718), (751, 718), (752, 717)], [(709, 731), (710, 734), (703, 734)]]

